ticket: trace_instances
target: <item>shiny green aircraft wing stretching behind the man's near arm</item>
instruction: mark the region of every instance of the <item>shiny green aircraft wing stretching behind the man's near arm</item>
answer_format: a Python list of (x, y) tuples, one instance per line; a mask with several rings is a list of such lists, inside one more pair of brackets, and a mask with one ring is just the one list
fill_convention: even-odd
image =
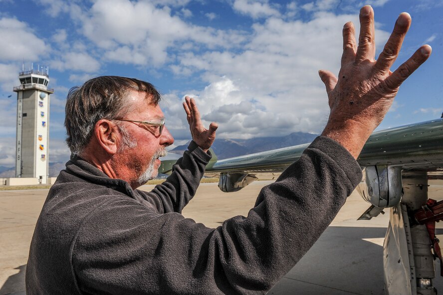
[[(297, 161), (308, 146), (309, 143), (219, 160), (208, 166), (207, 172), (281, 172)], [(362, 167), (443, 168), (443, 119), (374, 132), (357, 161)]]

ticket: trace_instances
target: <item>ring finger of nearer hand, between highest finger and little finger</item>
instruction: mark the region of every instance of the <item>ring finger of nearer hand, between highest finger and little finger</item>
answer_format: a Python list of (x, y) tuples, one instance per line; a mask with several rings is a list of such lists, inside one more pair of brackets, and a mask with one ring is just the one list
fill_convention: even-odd
[(397, 21), (395, 22), (391, 36), (377, 59), (377, 63), (375, 64), (376, 72), (386, 72), (391, 68), (400, 52), (406, 32), (410, 26), (411, 15), (409, 15), (407, 12), (400, 13)]

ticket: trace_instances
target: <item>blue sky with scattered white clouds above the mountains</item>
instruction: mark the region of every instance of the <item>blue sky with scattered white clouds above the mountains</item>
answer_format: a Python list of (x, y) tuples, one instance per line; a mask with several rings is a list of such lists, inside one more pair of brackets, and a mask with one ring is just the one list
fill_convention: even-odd
[[(380, 128), (443, 112), (443, 0), (0, 0), (0, 165), (15, 156), (18, 72), (49, 67), (49, 161), (66, 161), (67, 91), (98, 75), (147, 80), (164, 95), (176, 144), (190, 139), (181, 102), (192, 95), (218, 137), (319, 133), (328, 117), (319, 69), (339, 70), (341, 31), (375, 11), (378, 52), (400, 12), (413, 22), (393, 68), (420, 45), (433, 54), (402, 85)], [(357, 30), (358, 31), (358, 30)], [(8, 97), (12, 95), (11, 97)]]

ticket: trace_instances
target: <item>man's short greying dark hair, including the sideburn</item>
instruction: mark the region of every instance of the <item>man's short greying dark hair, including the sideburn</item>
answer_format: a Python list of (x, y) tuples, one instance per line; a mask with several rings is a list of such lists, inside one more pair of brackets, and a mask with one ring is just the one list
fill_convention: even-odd
[[(154, 105), (160, 102), (160, 93), (151, 83), (119, 76), (92, 78), (82, 86), (69, 90), (64, 125), (67, 131), (66, 143), (73, 154), (81, 154), (88, 145), (98, 120), (124, 118), (133, 110), (135, 106), (125, 101), (129, 90), (145, 92), (146, 99)], [(122, 131), (123, 126), (118, 126)], [(125, 130), (122, 137), (124, 144), (131, 144)]]

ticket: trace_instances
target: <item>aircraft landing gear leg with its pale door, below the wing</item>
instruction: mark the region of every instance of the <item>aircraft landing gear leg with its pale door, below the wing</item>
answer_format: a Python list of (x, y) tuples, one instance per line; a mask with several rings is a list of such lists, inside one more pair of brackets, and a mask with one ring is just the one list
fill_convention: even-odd
[(425, 225), (410, 226), (408, 212), (420, 209), (428, 200), (426, 172), (403, 173), (404, 195), (391, 209), (383, 245), (385, 290), (388, 295), (436, 295), (431, 240)]

